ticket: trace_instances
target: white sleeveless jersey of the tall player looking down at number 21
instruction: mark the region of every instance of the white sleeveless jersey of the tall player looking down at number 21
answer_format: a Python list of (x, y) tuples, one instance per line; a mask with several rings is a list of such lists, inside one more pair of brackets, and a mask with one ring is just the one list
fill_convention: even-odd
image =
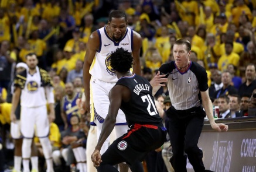
[(117, 76), (115, 75), (115, 70), (111, 68), (111, 53), (120, 47), (132, 52), (133, 31), (127, 27), (124, 37), (119, 42), (114, 41), (108, 36), (106, 27), (101, 27), (97, 32), (100, 37), (100, 47), (95, 53), (90, 74), (94, 79), (115, 83), (117, 82)]

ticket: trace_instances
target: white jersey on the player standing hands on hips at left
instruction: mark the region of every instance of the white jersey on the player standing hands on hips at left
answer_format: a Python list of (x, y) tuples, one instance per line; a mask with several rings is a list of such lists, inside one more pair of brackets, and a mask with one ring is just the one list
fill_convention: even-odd
[(33, 75), (30, 75), (27, 70), (25, 87), (21, 92), (21, 106), (39, 107), (46, 105), (46, 102), (45, 89), (41, 86), (41, 76), (36, 66), (36, 73)]

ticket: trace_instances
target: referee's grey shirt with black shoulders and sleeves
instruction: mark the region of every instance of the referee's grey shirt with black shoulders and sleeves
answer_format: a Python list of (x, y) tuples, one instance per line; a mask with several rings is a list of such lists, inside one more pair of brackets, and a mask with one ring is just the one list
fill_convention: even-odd
[(187, 110), (200, 106), (200, 92), (208, 89), (206, 70), (196, 62), (190, 62), (186, 72), (180, 72), (175, 61), (163, 64), (161, 73), (171, 73), (168, 76), (168, 91), (172, 106), (176, 110)]

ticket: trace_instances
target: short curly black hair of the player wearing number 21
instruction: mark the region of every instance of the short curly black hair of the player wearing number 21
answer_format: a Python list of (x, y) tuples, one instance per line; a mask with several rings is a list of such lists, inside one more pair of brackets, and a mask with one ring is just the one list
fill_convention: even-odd
[(124, 73), (131, 69), (133, 60), (131, 52), (121, 47), (111, 54), (110, 64), (115, 71)]

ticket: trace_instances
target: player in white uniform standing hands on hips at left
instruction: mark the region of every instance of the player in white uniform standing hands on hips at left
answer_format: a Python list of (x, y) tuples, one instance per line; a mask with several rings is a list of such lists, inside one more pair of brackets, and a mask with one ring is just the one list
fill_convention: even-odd
[(46, 103), (50, 108), (49, 118), (54, 120), (54, 96), (52, 80), (46, 71), (39, 69), (36, 54), (26, 55), (29, 69), (16, 75), (14, 80), (15, 92), (12, 97), (11, 116), (14, 115), (19, 98), (21, 97), (21, 132), (23, 135), (22, 163), (23, 172), (29, 172), (29, 158), (31, 144), (36, 135), (42, 144), (43, 154), (46, 159), (47, 172), (53, 172), (52, 145), (50, 144), (49, 120), (47, 117)]

